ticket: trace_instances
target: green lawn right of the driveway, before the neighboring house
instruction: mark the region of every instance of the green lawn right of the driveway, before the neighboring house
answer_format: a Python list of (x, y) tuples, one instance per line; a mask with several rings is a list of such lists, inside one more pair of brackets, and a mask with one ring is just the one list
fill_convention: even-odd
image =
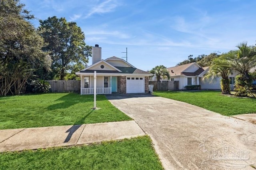
[(154, 91), (154, 95), (183, 101), (222, 115), (256, 113), (256, 99), (221, 95), (220, 91)]

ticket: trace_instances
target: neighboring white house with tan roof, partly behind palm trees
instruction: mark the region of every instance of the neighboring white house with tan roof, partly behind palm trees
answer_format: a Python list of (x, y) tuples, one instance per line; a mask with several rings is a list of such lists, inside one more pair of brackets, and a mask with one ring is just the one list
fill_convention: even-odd
[[(186, 89), (187, 85), (201, 85), (201, 89), (220, 89), (220, 79), (218, 77), (214, 81), (203, 80), (204, 75), (208, 72), (209, 67), (201, 67), (197, 63), (188, 63), (175, 67), (169, 67), (167, 70), (170, 73), (170, 79), (163, 81), (179, 81), (179, 89)], [(233, 71), (230, 78), (230, 88), (234, 89), (234, 80), (238, 73)], [(153, 80), (155, 78), (153, 77)]]

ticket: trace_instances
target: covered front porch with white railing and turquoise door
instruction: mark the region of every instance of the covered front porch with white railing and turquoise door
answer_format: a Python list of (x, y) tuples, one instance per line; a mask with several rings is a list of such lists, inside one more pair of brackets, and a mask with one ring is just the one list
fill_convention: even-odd
[[(81, 75), (81, 95), (94, 94), (94, 76)], [(118, 76), (96, 76), (96, 94), (118, 92)]]

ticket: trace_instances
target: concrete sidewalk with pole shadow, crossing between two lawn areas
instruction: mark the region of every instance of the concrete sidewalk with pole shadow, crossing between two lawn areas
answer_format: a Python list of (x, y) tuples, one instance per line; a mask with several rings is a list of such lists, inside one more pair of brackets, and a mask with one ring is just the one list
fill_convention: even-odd
[(144, 134), (135, 121), (0, 130), (0, 152), (90, 144)]

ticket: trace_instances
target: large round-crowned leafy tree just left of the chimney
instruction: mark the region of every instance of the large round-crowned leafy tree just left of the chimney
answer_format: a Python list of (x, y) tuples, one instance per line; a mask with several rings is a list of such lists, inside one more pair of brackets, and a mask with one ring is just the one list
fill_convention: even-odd
[(65, 18), (49, 17), (40, 20), (38, 33), (47, 45), (44, 51), (52, 57), (52, 75), (49, 79), (64, 80), (72, 65), (88, 63), (91, 47), (84, 42), (85, 35), (75, 22), (67, 22)]

